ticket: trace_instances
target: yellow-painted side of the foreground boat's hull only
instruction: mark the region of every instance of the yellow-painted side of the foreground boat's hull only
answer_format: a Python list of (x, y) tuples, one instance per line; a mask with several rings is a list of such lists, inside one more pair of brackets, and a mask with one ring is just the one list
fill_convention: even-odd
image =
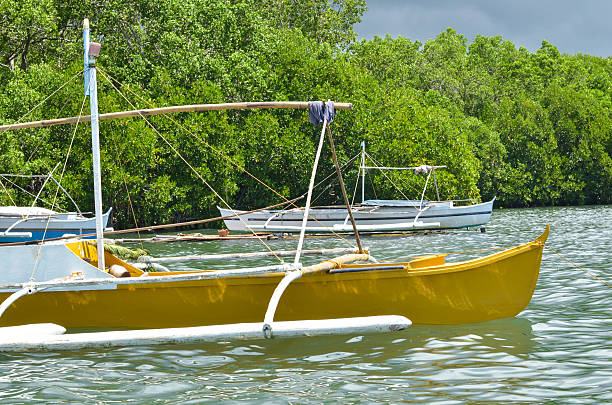
[[(433, 256), (342, 266), (405, 266), (399, 270), (305, 275), (287, 288), (274, 319), (403, 315), (415, 324), (459, 324), (511, 317), (531, 300), (547, 236), (548, 229), (533, 242), (461, 263), (444, 264), (443, 256)], [(79, 253), (80, 248), (84, 254), (83, 246), (75, 244), (72, 250)], [(95, 252), (85, 253), (97, 260)], [(107, 263), (112, 262), (106, 255)], [(159, 282), (112, 290), (27, 295), (8, 308), (0, 326), (53, 322), (66, 328), (162, 328), (263, 322), (283, 277), (276, 273), (168, 282), (163, 275), (168, 273), (161, 274), (151, 274)], [(8, 296), (0, 293), (0, 302)]]

